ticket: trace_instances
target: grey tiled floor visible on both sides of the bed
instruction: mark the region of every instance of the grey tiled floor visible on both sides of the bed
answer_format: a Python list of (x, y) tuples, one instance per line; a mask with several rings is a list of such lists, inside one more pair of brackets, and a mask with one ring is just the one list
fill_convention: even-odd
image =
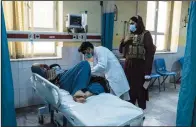
[[(150, 89), (150, 101), (147, 102), (144, 126), (175, 126), (179, 85), (174, 89), (172, 84), (166, 85), (166, 90), (159, 93), (154, 86)], [(50, 117), (45, 117), (45, 127), (52, 127)], [(18, 126), (41, 126), (38, 123), (36, 107), (17, 110)]]

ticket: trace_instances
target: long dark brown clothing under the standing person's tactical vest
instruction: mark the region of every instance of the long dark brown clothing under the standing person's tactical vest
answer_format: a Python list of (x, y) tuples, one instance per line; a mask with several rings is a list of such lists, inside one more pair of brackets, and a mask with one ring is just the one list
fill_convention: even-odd
[[(124, 57), (128, 53), (128, 47), (132, 40), (122, 42), (119, 51), (124, 53)], [(130, 85), (131, 102), (135, 104), (136, 100), (140, 108), (146, 108), (146, 100), (148, 100), (148, 90), (145, 90), (143, 84), (145, 82), (144, 76), (150, 75), (155, 54), (155, 46), (153, 44), (150, 32), (145, 33), (144, 48), (146, 50), (145, 60), (142, 59), (126, 59), (125, 60), (125, 74)], [(124, 51), (123, 51), (124, 50)]]

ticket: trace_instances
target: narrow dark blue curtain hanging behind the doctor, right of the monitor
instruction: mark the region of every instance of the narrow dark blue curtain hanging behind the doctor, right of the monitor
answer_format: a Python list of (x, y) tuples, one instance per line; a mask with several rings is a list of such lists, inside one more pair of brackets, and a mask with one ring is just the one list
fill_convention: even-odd
[(114, 29), (114, 13), (106, 12), (102, 15), (102, 46), (112, 50)]

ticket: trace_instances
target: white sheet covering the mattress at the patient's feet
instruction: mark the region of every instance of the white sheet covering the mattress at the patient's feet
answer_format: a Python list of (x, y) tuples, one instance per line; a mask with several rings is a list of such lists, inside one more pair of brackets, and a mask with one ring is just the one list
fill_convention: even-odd
[[(122, 126), (143, 119), (142, 109), (111, 94), (92, 96), (83, 104), (60, 90), (62, 103), (59, 111), (77, 126)], [(140, 120), (140, 121), (139, 121)]]

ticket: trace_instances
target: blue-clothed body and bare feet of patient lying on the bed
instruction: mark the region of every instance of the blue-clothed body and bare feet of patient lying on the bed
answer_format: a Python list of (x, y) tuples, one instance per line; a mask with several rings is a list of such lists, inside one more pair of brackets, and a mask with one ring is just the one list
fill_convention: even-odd
[(47, 75), (48, 80), (55, 79), (55, 84), (68, 91), (76, 102), (84, 103), (86, 98), (92, 95), (109, 91), (105, 78), (91, 76), (91, 68), (87, 61), (82, 61), (60, 74), (58, 69), (51, 69), (47, 71)]

